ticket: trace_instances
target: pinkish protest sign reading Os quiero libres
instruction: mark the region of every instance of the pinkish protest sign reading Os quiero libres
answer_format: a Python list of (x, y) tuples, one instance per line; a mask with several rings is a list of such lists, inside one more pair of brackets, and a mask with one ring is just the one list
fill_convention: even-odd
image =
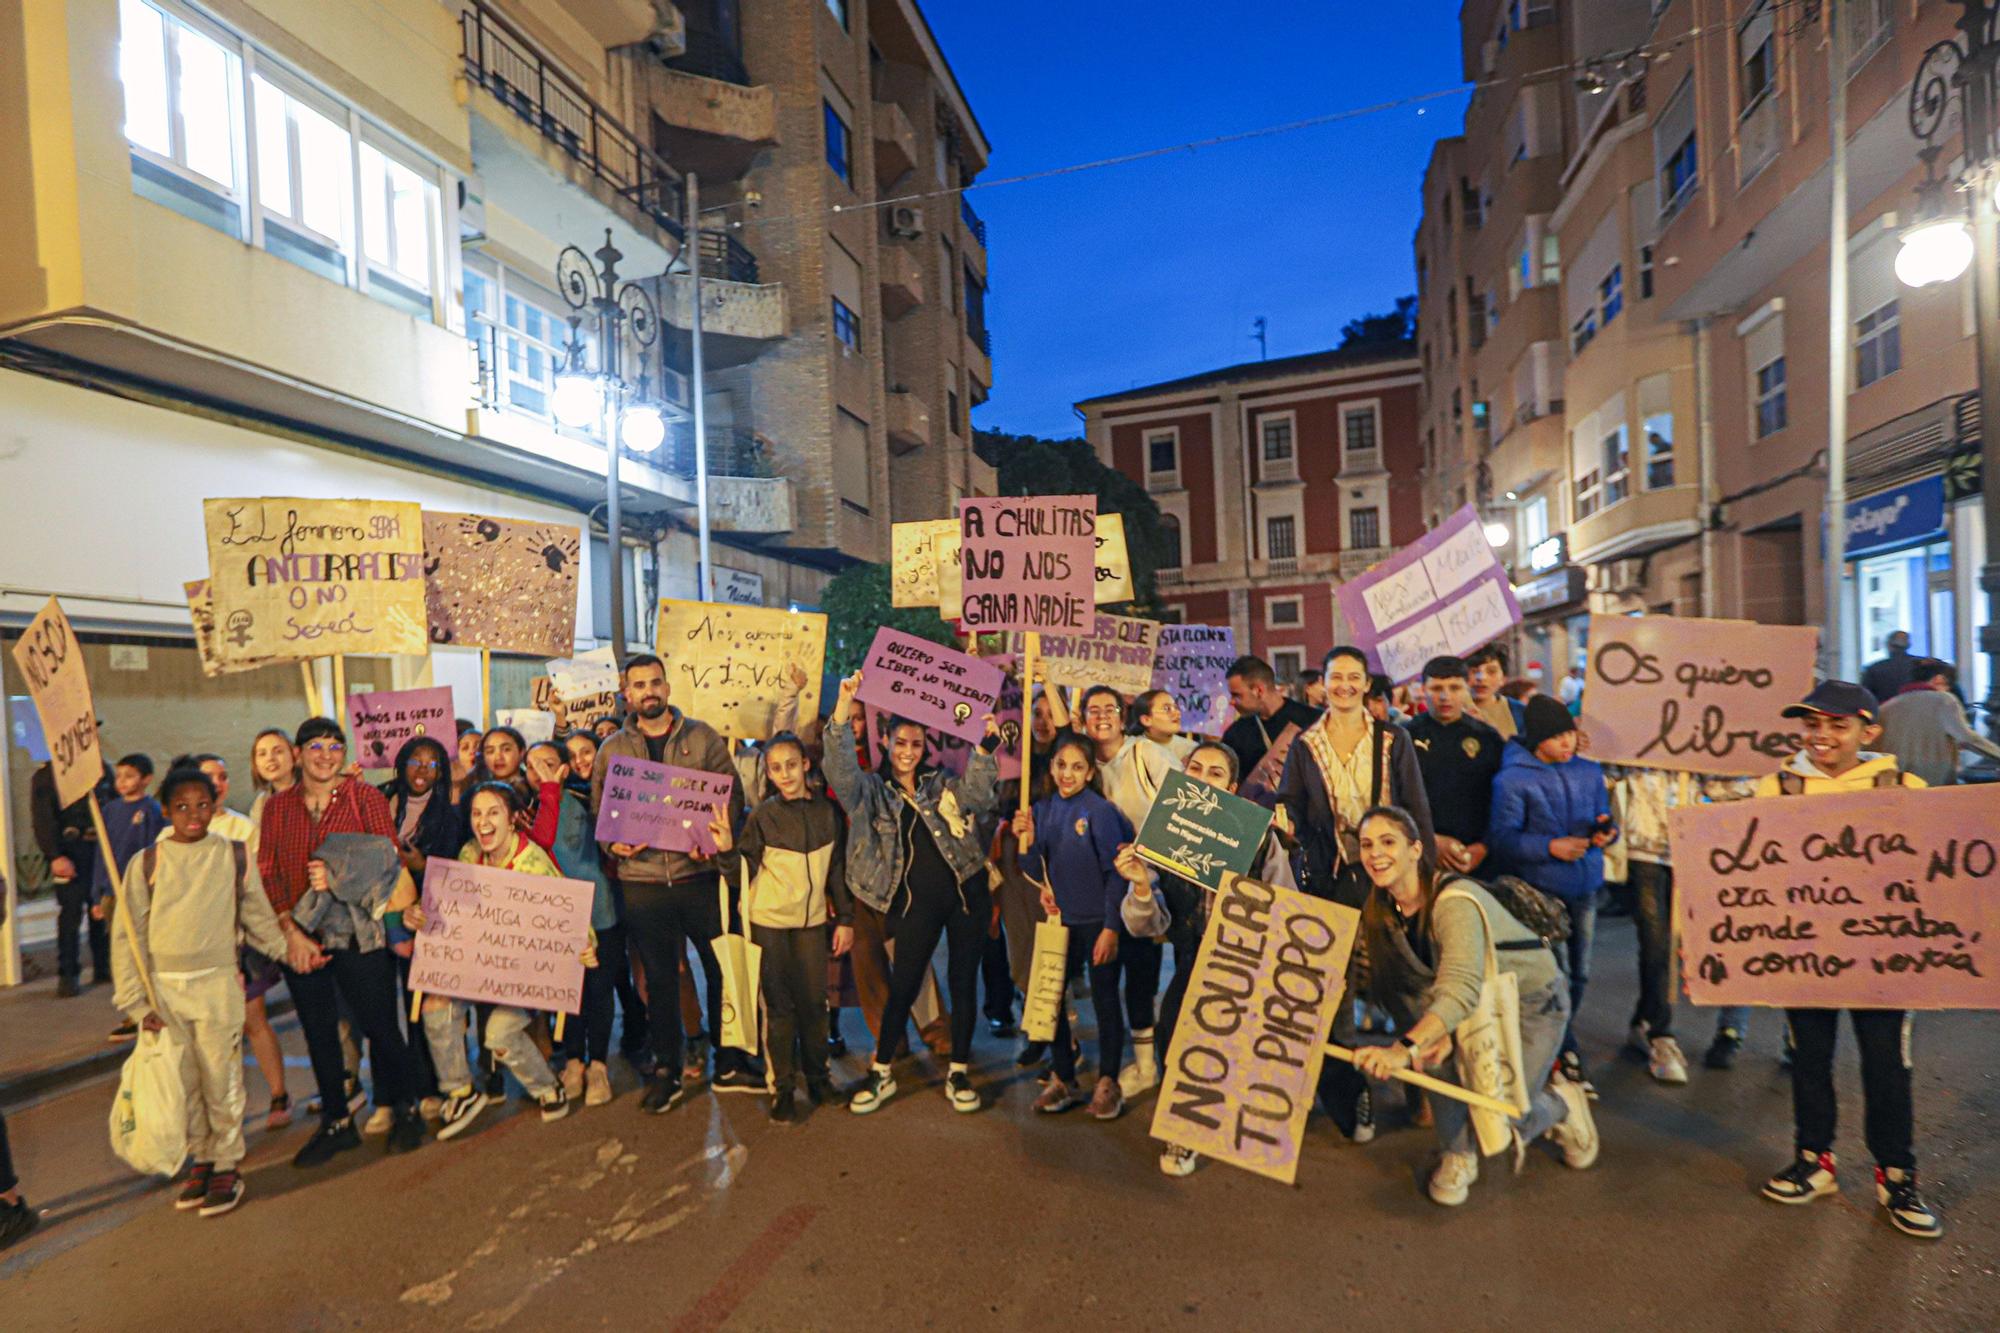
[(1584, 715), (1600, 763), (1776, 773), (1798, 751), (1780, 717), (1812, 689), (1820, 630), (1694, 616), (1590, 616)]

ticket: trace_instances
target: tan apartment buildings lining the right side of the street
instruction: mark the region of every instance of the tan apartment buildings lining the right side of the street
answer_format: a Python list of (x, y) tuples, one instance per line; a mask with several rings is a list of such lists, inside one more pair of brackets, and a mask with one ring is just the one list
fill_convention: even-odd
[[(1464, 46), (1480, 52), (1468, 76), (1492, 84), (1474, 110), (1534, 82), (1508, 68), (1524, 36), (1538, 42), (1526, 68), (1556, 70), (1568, 110), (1552, 186), (1520, 186), (1534, 194), (1524, 220), (1508, 186), (1482, 208), (1478, 182), (1532, 158), (1476, 132), (1474, 112), (1432, 156), (1418, 230), (1426, 486), (1432, 506), (1466, 490), (1514, 526), (1520, 664), (1548, 679), (1582, 660), (1592, 610), (1826, 622), (1812, 532), (1826, 500), (1836, 12), (1852, 292), (1840, 660), (1854, 671), (1906, 628), (1986, 691), (1970, 278), (1912, 290), (1894, 276), (1922, 180), (1910, 78), (1954, 12), (1908, 0), (1466, 6)], [(1506, 240), (1492, 248), (1496, 210)], [(1494, 254), (1514, 260), (1504, 288), (1484, 276)], [(1530, 286), (1554, 322), (1506, 336)], [(1496, 316), (1454, 288), (1508, 300)], [(1494, 336), (1472, 346), (1480, 316), (1498, 358)], [(1496, 376), (1502, 364), (1516, 372)]]

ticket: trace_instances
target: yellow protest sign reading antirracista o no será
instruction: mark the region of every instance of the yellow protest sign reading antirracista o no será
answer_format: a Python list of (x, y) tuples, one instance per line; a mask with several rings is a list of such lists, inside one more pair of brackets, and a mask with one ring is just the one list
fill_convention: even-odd
[(424, 518), (404, 500), (202, 500), (216, 660), (428, 652)]

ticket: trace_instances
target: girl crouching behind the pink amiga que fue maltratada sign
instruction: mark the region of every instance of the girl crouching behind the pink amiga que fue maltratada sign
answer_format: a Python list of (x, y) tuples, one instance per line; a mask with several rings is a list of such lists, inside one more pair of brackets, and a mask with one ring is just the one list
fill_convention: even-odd
[[(490, 865), (522, 875), (548, 875), (562, 879), (562, 871), (548, 859), (548, 853), (528, 841), (514, 825), (520, 817), (520, 797), (506, 783), (480, 783), (466, 799), (472, 815), (472, 841), (458, 853), (460, 861)], [(412, 903), (402, 911), (402, 923), (412, 931), (432, 929), (422, 903)], [(440, 923), (442, 925), (442, 923)], [(584, 967), (596, 967), (596, 951), (584, 951)], [(502, 1065), (514, 1071), (520, 1085), (542, 1107), (544, 1121), (560, 1121), (570, 1113), (570, 1099), (562, 1083), (550, 1073), (548, 1061), (528, 1039), (528, 1011), (512, 1005), (486, 1007), (486, 1049)], [(472, 1083), (472, 1065), (466, 1061), (466, 1021), (472, 1005), (444, 995), (424, 997), (424, 1039), (430, 1043), (430, 1061), (438, 1067), (438, 1087), (444, 1089), (444, 1109), (440, 1113), (438, 1139), (464, 1133), (490, 1101)]]

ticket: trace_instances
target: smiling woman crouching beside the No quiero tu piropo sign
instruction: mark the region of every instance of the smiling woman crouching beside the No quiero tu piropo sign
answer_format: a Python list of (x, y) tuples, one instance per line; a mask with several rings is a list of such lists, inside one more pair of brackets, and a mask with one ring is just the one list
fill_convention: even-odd
[[(1520, 987), (1520, 1055), (1528, 1115), (1514, 1121), (1516, 1145), (1544, 1133), (1568, 1167), (1582, 1171), (1598, 1159), (1598, 1127), (1582, 1085), (1550, 1079), (1562, 1033), (1570, 1027), (1570, 987), (1556, 955), (1520, 925), (1482, 885), (1440, 877), (1424, 847), (1416, 819), (1400, 807), (1378, 805), (1360, 819), (1360, 859), (1374, 891), (1362, 905), (1362, 933), (1348, 975), (1368, 999), (1396, 1017), (1402, 1041), (1360, 1047), (1354, 1067), (1374, 1079), (1400, 1069), (1428, 1069), (1458, 1083), (1452, 1063), (1442, 1063), (1448, 1039), (1482, 1003), (1488, 969), (1512, 973)], [(1466, 1103), (1432, 1097), (1438, 1143), (1444, 1155), (1430, 1175), (1434, 1203), (1456, 1207), (1480, 1179), (1480, 1155)], [(1520, 1151), (1520, 1149), (1516, 1149)]]

